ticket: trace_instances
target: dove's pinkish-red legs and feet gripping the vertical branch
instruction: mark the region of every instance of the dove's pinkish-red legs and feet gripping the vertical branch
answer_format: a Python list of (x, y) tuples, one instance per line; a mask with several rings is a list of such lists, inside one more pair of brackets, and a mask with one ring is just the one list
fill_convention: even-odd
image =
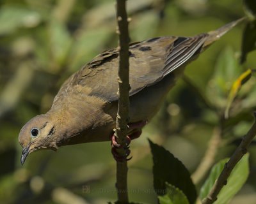
[[(129, 144), (131, 143), (131, 140), (134, 140), (141, 135), (141, 133), (142, 133), (141, 128), (143, 128), (147, 123), (148, 123), (148, 120), (141, 120), (140, 122), (128, 123), (127, 124), (128, 131), (134, 130), (134, 132), (132, 132), (131, 134), (126, 136), (127, 142), (125, 143), (125, 145), (118, 144), (116, 142), (115, 133), (113, 134), (113, 136), (111, 138), (111, 146), (112, 146), (111, 152), (116, 161), (125, 161), (125, 160), (128, 161), (132, 158), (132, 157), (130, 157), (129, 159), (127, 159), (129, 154), (131, 153), (131, 150), (129, 150)], [(118, 154), (118, 152), (116, 152), (116, 149), (121, 149), (121, 148), (126, 150), (125, 156), (120, 156)]]

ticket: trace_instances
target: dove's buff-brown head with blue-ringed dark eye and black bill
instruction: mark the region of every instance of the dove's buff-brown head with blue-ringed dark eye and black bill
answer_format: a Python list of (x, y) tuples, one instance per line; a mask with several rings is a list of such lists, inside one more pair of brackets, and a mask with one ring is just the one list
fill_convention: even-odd
[(56, 128), (47, 115), (37, 115), (29, 120), (19, 133), (19, 142), (23, 147), (21, 164), (23, 165), (26, 157), (39, 149), (57, 150), (54, 142)]

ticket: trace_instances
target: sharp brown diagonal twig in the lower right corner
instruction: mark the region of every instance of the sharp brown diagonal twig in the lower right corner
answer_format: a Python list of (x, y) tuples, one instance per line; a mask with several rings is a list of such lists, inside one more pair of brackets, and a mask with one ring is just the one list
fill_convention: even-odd
[[(256, 118), (256, 113), (254, 113)], [(227, 179), (231, 171), (236, 166), (237, 162), (246, 154), (247, 148), (252, 142), (254, 136), (256, 135), (256, 121), (253, 123), (252, 128), (248, 131), (246, 135), (243, 136), (243, 140), (237, 147), (236, 151), (232, 154), (229, 161), (225, 164), (224, 169), (221, 171), (220, 177), (215, 181), (209, 194), (202, 201), (203, 204), (211, 204), (217, 200), (217, 195), (224, 185), (227, 184)]]

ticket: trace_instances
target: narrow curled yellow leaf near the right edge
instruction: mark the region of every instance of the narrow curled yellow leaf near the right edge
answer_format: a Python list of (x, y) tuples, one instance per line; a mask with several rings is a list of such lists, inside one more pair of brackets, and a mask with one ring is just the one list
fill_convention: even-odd
[(238, 91), (241, 89), (241, 86), (246, 83), (250, 77), (252, 76), (252, 70), (248, 69), (245, 71), (243, 74), (241, 74), (237, 80), (232, 84), (232, 88), (228, 94), (228, 101), (227, 101), (227, 106), (225, 110), (225, 118), (228, 118), (228, 113), (230, 110), (230, 106), (232, 102), (234, 101), (234, 98), (237, 96)]

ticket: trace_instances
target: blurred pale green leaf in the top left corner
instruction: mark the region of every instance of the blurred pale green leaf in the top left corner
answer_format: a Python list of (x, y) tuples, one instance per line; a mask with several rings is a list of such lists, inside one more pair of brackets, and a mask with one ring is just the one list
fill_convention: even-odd
[(41, 21), (38, 12), (19, 6), (4, 6), (0, 10), (0, 34), (9, 34), (19, 27), (35, 27)]

